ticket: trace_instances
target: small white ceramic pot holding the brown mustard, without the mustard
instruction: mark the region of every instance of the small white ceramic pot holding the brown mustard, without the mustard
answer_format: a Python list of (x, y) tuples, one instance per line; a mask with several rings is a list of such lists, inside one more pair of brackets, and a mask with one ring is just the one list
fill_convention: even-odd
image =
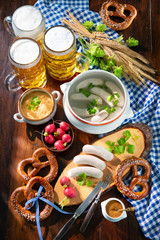
[(111, 217), (110, 215), (108, 215), (107, 210), (106, 210), (106, 206), (111, 201), (117, 201), (117, 202), (121, 203), (122, 209), (125, 209), (125, 206), (124, 206), (124, 204), (121, 200), (119, 200), (118, 198), (109, 198), (106, 201), (103, 201), (101, 203), (101, 209), (102, 209), (103, 216), (110, 222), (119, 222), (120, 220), (126, 218), (127, 217), (126, 211), (122, 211), (122, 214), (119, 217)]

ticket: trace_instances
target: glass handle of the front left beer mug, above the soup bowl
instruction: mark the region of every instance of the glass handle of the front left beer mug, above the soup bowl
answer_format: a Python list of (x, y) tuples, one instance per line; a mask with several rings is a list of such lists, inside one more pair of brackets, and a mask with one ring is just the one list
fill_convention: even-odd
[[(19, 85), (19, 83), (16, 81), (16, 83), (13, 85), (12, 87), (12, 82), (16, 79), (17, 74), (14, 72), (11, 72), (10, 74), (8, 74), (4, 80), (4, 84), (7, 88), (8, 91), (10, 92), (17, 92), (19, 89), (21, 89), (21, 86)], [(16, 79), (17, 80), (17, 79)]]

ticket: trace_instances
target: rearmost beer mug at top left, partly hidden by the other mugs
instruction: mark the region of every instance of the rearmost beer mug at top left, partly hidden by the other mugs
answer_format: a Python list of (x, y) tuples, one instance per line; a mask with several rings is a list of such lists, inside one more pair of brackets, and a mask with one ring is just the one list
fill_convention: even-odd
[(4, 18), (6, 30), (14, 37), (29, 37), (42, 47), (42, 39), (46, 30), (45, 19), (40, 10), (34, 6), (24, 5), (18, 8), (13, 16)]

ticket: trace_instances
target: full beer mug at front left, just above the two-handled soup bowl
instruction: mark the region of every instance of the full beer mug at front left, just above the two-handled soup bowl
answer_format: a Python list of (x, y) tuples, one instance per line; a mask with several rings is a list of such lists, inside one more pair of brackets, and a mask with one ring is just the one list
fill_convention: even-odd
[(16, 39), (9, 48), (8, 57), (14, 69), (5, 78), (5, 85), (9, 91), (45, 86), (47, 78), (43, 54), (35, 40)]

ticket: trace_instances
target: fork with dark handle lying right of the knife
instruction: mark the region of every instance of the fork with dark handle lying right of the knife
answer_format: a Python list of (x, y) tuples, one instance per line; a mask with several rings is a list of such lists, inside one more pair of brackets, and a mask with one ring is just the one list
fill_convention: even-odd
[(82, 225), (80, 227), (80, 232), (84, 232), (88, 226), (88, 224), (90, 223), (92, 217), (93, 217), (93, 214), (98, 206), (98, 203), (99, 203), (99, 200), (100, 200), (100, 197), (101, 197), (101, 194), (102, 194), (102, 191), (104, 188), (106, 188), (110, 181), (111, 181), (111, 178), (112, 178), (112, 172), (108, 172), (106, 174), (106, 176), (104, 177), (104, 180), (102, 182), (102, 187), (101, 187), (101, 190), (99, 191), (97, 197), (95, 198), (94, 202), (92, 203), (91, 207), (89, 208), (83, 222), (82, 222)]

